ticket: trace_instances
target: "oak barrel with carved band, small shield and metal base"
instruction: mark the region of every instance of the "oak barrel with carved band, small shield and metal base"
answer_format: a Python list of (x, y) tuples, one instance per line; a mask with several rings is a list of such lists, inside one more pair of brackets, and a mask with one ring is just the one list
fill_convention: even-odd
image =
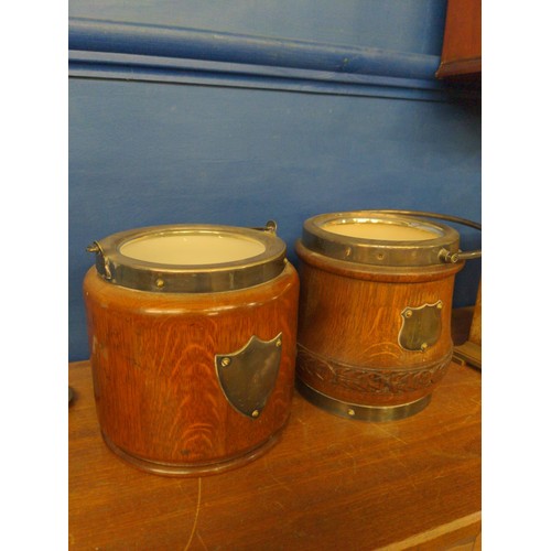
[(296, 252), (301, 393), (358, 420), (425, 408), (452, 359), (455, 274), (479, 251), (463, 253), (455, 229), (411, 212), (358, 210), (307, 219)]

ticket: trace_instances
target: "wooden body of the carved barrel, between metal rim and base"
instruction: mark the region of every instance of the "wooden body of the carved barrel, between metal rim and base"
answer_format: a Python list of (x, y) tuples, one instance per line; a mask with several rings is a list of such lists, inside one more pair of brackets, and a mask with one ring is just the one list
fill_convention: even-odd
[[(301, 241), (296, 252), (298, 377), (325, 396), (361, 406), (406, 404), (429, 396), (452, 358), (454, 280), (464, 263), (371, 267), (313, 252)], [(429, 346), (407, 349), (399, 343), (403, 313), (435, 304), (440, 331), (431, 334), (413, 322), (419, 343), (426, 339)]]

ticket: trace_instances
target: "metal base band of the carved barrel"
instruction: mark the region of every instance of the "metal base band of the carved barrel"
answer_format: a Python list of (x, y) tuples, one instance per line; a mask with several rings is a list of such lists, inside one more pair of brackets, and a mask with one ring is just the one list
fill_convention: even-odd
[(431, 401), (431, 395), (428, 395), (419, 400), (398, 406), (364, 406), (331, 398), (318, 390), (314, 390), (300, 379), (296, 380), (296, 389), (307, 401), (320, 409), (334, 415), (358, 421), (385, 422), (406, 419), (422, 411)]

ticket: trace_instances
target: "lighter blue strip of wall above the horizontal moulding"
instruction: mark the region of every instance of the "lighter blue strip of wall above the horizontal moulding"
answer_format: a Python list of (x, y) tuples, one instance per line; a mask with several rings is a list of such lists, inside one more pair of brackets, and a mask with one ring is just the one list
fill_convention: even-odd
[(71, 0), (71, 18), (440, 55), (446, 0)]

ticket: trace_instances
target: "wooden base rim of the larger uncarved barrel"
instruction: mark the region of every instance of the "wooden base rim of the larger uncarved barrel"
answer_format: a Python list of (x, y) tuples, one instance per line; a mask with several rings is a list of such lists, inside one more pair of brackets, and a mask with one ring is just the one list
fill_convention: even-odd
[(111, 452), (114, 452), (127, 463), (139, 468), (140, 471), (145, 471), (148, 473), (153, 473), (161, 476), (197, 477), (203, 475), (215, 475), (218, 473), (224, 473), (226, 471), (230, 471), (233, 468), (237, 468), (241, 465), (250, 463), (251, 461), (260, 457), (266, 452), (271, 450), (279, 442), (281, 437), (281, 431), (282, 429), (273, 433), (266, 442), (263, 442), (259, 446), (236, 457), (223, 460), (219, 462), (197, 464), (163, 463), (138, 457), (129, 452), (126, 452), (117, 444), (115, 444), (109, 439), (109, 436), (104, 433), (104, 431), (101, 431), (101, 436), (104, 437), (104, 442), (107, 444), (107, 447), (109, 447)]

